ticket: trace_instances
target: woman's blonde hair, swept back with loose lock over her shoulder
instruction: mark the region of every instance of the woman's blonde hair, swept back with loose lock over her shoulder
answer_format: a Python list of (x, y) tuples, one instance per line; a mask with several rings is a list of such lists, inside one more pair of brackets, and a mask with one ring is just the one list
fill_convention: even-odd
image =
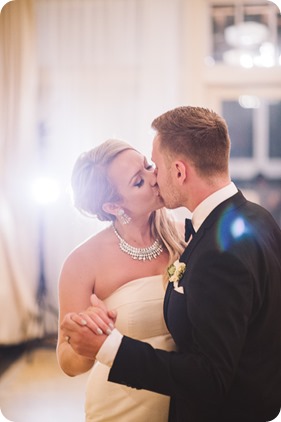
[[(75, 207), (88, 217), (101, 221), (114, 221), (115, 216), (105, 212), (106, 202), (121, 200), (115, 186), (108, 178), (108, 167), (121, 152), (135, 150), (131, 145), (118, 139), (108, 139), (97, 147), (83, 152), (77, 159), (71, 177), (72, 195)], [(150, 216), (151, 233), (160, 238), (170, 259), (174, 262), (182, 254), (185, 243), (183, 234), (165, 208), (153, 211)]]

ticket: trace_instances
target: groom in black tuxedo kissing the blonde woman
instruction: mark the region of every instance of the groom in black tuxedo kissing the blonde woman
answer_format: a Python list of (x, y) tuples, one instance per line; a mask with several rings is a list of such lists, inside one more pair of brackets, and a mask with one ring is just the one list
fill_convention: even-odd
[(109, 381), (171, 396), (169, 421), (273, 420), (281, 406), (280, 228), (231, 182), (219, 115), (178, 107), (152, 127), (160, 194), (167, 208), (188, 208), (194, 228), (180, 288), (170, 282), (164, 303), (177, 352), (115, 329), (93, 338), (93, 354), (111, 367)]

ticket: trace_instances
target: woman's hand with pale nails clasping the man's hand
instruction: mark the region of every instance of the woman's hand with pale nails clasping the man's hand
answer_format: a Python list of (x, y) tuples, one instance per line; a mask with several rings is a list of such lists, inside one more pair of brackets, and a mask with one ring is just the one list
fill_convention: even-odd
[(109, 335), (114, 328), (116, 317), (116, 311), (108, 311), (104, 303), (93, 294), (91, 306), (79, 314), (73, 313), (71, 319), (81, 326), (87, 325), (95, 334)]

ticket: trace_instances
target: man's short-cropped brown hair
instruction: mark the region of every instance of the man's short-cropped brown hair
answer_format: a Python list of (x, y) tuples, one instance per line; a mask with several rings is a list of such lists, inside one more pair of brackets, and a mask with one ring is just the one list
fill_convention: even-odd
[(225, 120), (203, 107), (177, 107), (155, 118), (161, 148), (193, 162), (202, 176), (228, 172), (230, 137)]

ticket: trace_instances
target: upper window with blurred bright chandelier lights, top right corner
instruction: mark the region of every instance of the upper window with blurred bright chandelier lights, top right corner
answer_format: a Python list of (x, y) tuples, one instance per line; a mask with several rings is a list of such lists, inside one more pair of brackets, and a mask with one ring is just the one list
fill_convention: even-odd
[(271, 2), (213, 4), (211, 31), (215, 63), (245, 68), (281, 65), (281, 14)]

